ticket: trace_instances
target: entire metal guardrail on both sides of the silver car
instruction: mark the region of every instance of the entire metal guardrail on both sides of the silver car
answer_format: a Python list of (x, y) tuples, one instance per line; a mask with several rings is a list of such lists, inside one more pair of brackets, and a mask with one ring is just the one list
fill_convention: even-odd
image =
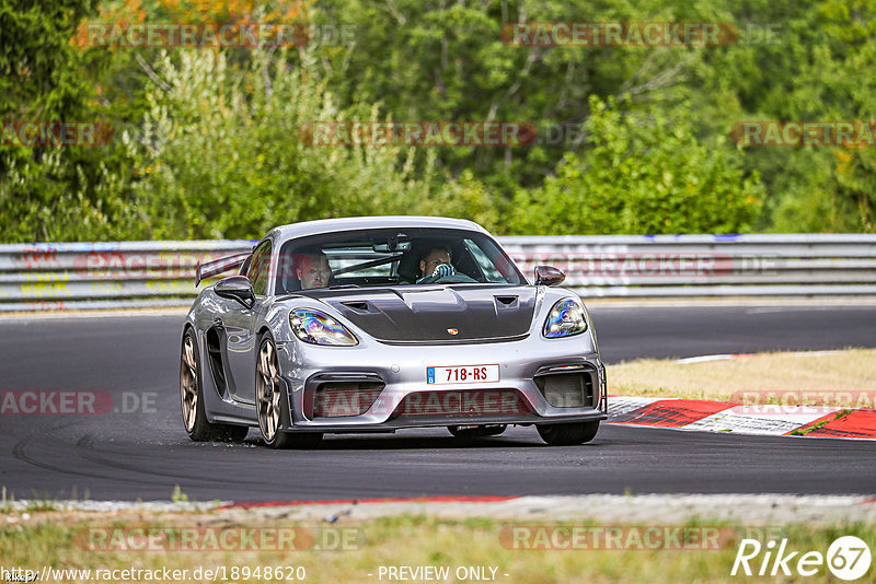
[[(585, 297), (876, 295), (876, 235), (499, 237), (532, 273), (564, 270)], [(0, 245), (0, 311), (184, 306), (194, 268), (254, 242)], [(205, 285), (205, 284), (201, 284)]]

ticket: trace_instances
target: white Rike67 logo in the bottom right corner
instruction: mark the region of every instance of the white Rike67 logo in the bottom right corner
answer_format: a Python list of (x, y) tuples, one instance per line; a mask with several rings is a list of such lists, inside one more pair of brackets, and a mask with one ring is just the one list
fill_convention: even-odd
[(757, 539), (742, 539), (730, 575), (791, 576), (796, 571), (800, 576), (814, 576), (823, 572), (827, 565), (835, 577), (853, 581), (867, 573), (871, 560), (869, 547), (855, 536), (837, 538), (828, 548), (827, 556), (820, 551), (802, 553), (792, 550), (787, 538), (782, 539), (777, 547), (772, 539), (765, 546)]

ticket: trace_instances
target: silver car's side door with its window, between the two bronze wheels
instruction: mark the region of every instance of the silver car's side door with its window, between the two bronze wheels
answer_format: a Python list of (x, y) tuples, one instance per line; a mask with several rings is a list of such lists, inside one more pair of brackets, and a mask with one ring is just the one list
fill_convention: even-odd
[(245, 276), (253, 284), (255, 304), (252, 308), (239, 304), (239, 309), (227, 313), (222, 322), (228, 365), (233, 379), (229, 384), (230, 392), (234, 400), (244, 404), (255, 404), (255, 360), (258, 352), (255, 327), (268, 291), (272, 247), (270, 240), (258, 244), (246, 269)]

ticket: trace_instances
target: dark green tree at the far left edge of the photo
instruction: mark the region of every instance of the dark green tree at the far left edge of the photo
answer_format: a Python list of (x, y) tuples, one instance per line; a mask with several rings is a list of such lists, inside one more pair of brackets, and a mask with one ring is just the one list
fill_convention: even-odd
[[(85, 57), (70, 45), (96, 0), (0, 3), (0, 120), (93, 120)], [(108, 235), (127, 213), (124, 179), (105, 152), (89, 147), (0, 145), (0, 224), (4, 241)]]

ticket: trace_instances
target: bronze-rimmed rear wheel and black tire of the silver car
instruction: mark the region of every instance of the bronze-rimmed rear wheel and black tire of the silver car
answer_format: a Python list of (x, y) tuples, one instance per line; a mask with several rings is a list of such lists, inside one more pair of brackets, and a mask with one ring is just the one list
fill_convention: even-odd
[(183, 428), (188, 437), (194, 442), (240, 442), (245, 439), (250, 431), (245, 425), (217, 424), (207, 421), (198, 343), (195, 331), (191, 328), (185, 331), (180, 353), (180, 405)]

